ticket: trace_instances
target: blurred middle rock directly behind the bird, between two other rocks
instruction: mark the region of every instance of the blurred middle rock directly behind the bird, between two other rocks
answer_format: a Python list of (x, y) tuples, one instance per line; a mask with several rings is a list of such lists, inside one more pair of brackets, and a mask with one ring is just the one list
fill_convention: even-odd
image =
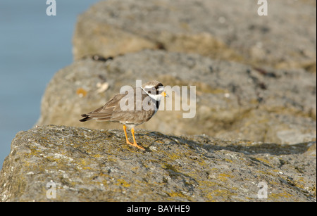
[(46, 88), (37, 125), (120, 129), (117, 123), (78, 120), (82, 113), (103, 106), (120, 87), (135, 86), (135, 80), (196, 87), (193, 118), (184, 118), (185, 110), (159, 110), (139, 126), (142, 129), (280, 144), (316, 140), (316, 75), (304, 70), (255, 70), (198, 54), (149, 50), (106, 62), (86, 58), (58, 71)]

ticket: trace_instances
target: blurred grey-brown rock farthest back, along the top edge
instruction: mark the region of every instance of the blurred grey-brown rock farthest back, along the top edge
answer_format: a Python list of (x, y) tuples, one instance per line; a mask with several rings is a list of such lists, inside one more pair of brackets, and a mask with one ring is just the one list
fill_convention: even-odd
[(316, 72), (316, 1), (108, 0), (79, 16), (75, 59), (166, 49)]

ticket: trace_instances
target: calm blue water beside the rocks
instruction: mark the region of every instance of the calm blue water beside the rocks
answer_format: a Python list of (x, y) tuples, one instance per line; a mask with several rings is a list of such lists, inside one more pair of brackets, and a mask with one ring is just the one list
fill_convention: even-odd
[(97, 0), (56, 0), (56, 16), (46, 0), (0, 1), (0, 167), (11, 141), (32, 128), (46, 85), (70, 65), (77, 15)]

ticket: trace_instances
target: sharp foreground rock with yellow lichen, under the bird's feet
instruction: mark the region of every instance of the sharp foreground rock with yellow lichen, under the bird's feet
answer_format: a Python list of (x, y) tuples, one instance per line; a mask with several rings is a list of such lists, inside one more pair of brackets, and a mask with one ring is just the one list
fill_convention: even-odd
[[(1, 201), (316, 201), (316, 141), (136, 136), (146, 151), (125, 144), (117, 129), (19, 132), (0, 172)], [(268, 198), (258, 198), (260, 182)]]

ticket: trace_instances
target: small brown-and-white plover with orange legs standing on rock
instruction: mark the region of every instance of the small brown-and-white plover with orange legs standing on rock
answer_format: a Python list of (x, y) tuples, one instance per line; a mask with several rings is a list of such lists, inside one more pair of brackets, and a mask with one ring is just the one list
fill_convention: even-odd
[[(121, 91), (120, 91), (121, 93)], [(147, 122), (159, 109), (160, 101), (168, 97), (159, 81), (150, 81), (142, 87), (130, 87), (124, 94), (116, 94), (104, 106), (87, 114), (82, 114), (80, 122), (88, 120), (119, 122), (123, 125), (127, 144), (145, 150), (135, 141), (135, 127)], [(127, 105), (128, 103), (128, 105)], [(127, 128), (130, 129), (133, 143), (129, 141)]]

